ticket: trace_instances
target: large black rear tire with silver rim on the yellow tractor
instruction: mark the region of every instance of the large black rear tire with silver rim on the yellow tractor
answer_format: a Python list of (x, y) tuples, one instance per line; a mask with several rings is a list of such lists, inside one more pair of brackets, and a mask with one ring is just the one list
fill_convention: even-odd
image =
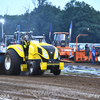
[(21, 72), (20, 65), (23, 59), (16, 53), (15, 50), (7, 50), (4, 57), (4, 70), (7, 75), (19, 75)]

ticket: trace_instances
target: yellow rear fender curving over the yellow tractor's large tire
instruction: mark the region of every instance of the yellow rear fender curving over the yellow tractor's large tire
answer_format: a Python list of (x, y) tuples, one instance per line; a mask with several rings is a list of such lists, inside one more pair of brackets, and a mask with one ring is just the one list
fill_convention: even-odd
[(22, 45), (10, 45), (7, 47), (7, 50), (8, 49), (14, 49), (20, 57), (22, 57), (22, 58), (25, 57)]

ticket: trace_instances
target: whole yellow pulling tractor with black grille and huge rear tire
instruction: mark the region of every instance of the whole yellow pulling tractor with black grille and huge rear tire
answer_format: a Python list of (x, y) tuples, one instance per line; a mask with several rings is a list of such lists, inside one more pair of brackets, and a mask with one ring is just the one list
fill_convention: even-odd
[(25, 34), (30, 35), (30, 32), (20, 34), (20, 44), (7, 47), (4, 56), (5, 73), (7, 75), (20, 75), (21, 72), (28, 72), (30, 75), (42, 75), (44, 71), (50, 70), (54, 75), (59, 75), (64, 68), (64, 63), (58, 59), (57, 48), (46, 43), (44, 36), (30, 35), (28, 57), (26, 59), (21, 44)]

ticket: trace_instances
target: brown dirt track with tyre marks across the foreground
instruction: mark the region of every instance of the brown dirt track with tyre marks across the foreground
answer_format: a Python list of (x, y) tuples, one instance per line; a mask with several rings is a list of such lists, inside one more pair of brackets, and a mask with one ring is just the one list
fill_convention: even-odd
[(0, 75), (0, 98), (12, 100), (100, 100), (100, 78), (54, 76), (47, 73), (43, 76)]

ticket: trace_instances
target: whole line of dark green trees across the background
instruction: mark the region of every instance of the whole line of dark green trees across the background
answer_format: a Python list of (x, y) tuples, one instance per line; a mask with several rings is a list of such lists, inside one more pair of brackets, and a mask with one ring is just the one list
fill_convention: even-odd
[[(78, 41), (80, 43), (100, 43), (100, 12), (89, 4), (70, 0), (61, 10), (60, 7), (53, 6), (47, 0), (37, 1), (38, 6), (30, 13), (27, 9), (26, 13), (22, 15), (0, 15), (0, 18), (5, 19), (4, 33), (7, 35), (14, 34), (17, 22), (19, 22), (21, 31), (32, 31), (34, 28), (34, 35), (45, 34), (48, 40), (49, 29), (52, 24), (51, 40), (53, 40), (54, 32), (69, 32), (72, 21), (71, 42), (76, 42), (76, 37), (79, 34), (88, 34), (86, 37), (79, 37)], [(89, 28), (89, 31), (87, 31), (87, 28)], [(2, 34), (0, 34), (1, 36)]]

